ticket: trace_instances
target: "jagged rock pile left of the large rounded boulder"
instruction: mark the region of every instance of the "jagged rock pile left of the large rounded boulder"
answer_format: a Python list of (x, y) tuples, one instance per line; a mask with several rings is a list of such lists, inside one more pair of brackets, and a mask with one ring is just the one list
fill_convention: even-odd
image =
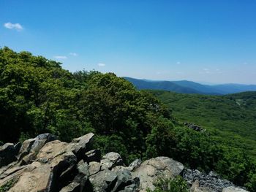
[(19, 153), (13, 144), (1, 146), (0, 188), (12, 192), (138, 191), (140, 180), (124, 167), (121, 156), (111, 152), (101, 158), (100, 151), (91, 148), (93, 138), (94, 134), (86, 134), (67, 143), (42, 134), (24, 141)]

